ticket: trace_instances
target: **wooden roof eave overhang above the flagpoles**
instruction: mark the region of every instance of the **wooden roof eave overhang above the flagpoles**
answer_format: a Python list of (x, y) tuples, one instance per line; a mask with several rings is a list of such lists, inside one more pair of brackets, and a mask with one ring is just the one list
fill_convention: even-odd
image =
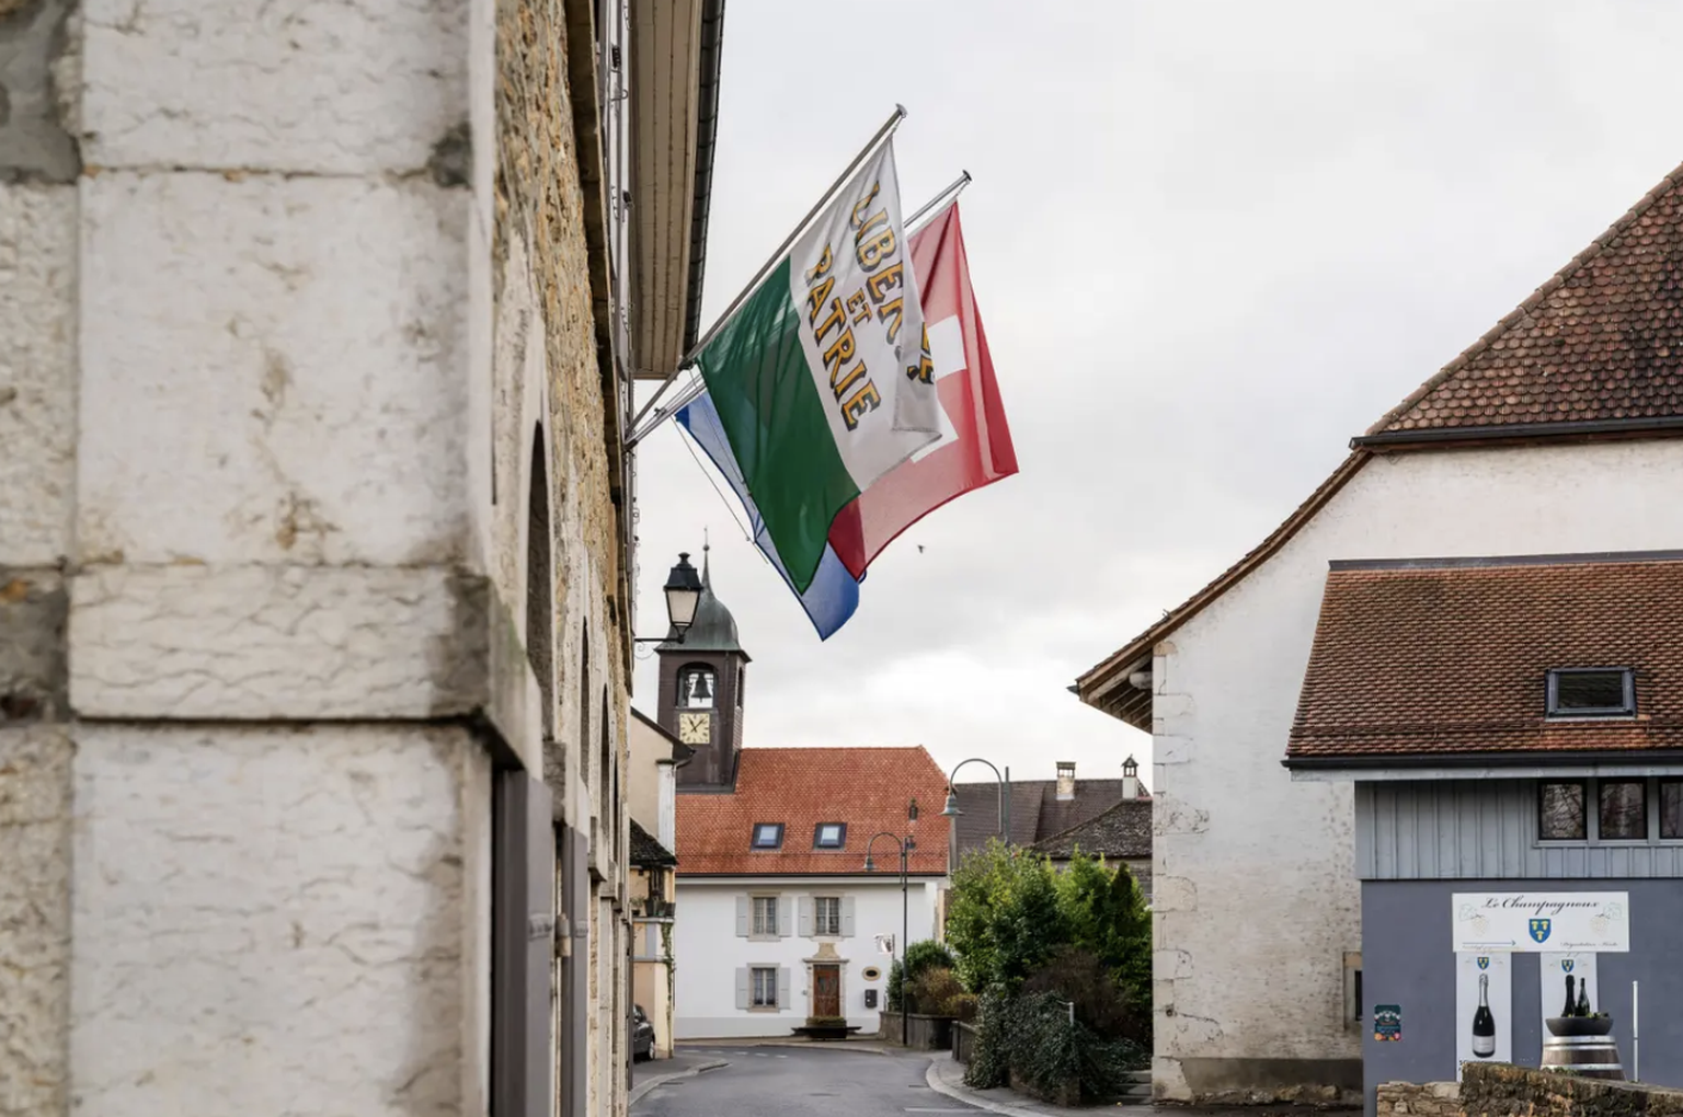
[(633, 375), (663, 380), (700, 333), (725, 0), (633, 0)]

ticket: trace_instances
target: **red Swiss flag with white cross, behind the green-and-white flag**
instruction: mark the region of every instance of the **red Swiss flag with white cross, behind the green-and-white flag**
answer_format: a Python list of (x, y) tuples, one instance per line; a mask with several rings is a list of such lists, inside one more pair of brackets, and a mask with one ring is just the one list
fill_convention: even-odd
[(969, 289), (958, 202), (912, 237), (912, 271), (922, 291), (941, 397), (941, 441), (885, 473), (836, 513), (830, 547), (855, 579), (900, 532), (941, 505), (1017, 473), (988, 335)]

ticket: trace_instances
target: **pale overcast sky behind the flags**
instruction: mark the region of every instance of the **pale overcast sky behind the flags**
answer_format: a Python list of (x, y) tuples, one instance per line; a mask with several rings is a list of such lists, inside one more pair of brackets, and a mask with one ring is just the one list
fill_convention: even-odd
[(643, 444), (638, 627), (710, 528), (749, 747), (1148, 765), (1070, 681), (1683, 161), (1671, 3), (729, 0), (724, 40), (703, 320), (900, 103), (907, 212), (976, 178), (1022, 468), (902, 535), (820, 643), (677, 427)]

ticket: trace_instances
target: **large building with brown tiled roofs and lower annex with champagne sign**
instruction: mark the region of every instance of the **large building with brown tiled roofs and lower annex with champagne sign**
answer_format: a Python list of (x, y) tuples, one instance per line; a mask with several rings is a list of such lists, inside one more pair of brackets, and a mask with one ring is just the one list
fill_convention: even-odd
[[(1656, 631), (1621, 639), (1629, 601), (1590, 592), (1612, 575), (1572, 569), (1676, 562), (1683, 547), (1680, 182), (1683, 168), (1353, 439), (1256, 550), (1077, 680), (1082, 701), (1153, 737), (1160, 1098), (1353, 1092), (1367, 1046), (1372, 1112), (1377, 1048), (1392, 1077), (1456, 1067), (1452, 956), (1385, 974), (1372, 956), (1382, 935), (1449, 952), (1447, 902), (1419, 890), (1639, 878), (1634, 897), (1683, 873), (1663, 819), (1683, 754), (1653, 722), (1671, 683), (1641, 663)], [(1518, 574), (1491, 574), (1503, 567)], [(1508, 612), (1491, 612), (1500, 594)], [(1574, 594), (1582, 609), (1565, 607)], [(1651, 604), (1676, 633), (1683, 602)], [(1513, 607), (1547, 612), (1562, 643), (1508, 641)], [(1565, 668), (1631, 671), (1627, 725), (1555, 723)], [(1629, 809), (1597, 819), (1609, 801)], [(1619, 839), (1634, 846), (1597, 850), (1643, 802), (1646, 826)], [(1567, 836), (1540, 833), (1557, 811)], [(1363, 929), (1375, 883), (1394, 905)], [(1405, 1043), (1363, 1021), (1387, 999)]]

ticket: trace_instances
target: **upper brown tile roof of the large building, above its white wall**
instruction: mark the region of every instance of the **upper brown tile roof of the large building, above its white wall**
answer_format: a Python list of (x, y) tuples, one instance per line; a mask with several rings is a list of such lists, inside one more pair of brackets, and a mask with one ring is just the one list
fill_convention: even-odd
[(1368, 434), (1683, 417), (1683, 167)]

